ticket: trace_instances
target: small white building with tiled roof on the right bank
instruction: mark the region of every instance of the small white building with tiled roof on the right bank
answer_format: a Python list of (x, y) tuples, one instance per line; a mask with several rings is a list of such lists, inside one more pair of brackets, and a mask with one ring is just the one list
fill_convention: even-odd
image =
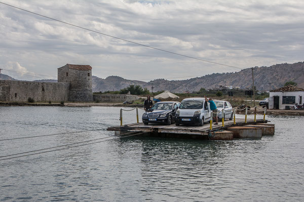
[(269, 96), (269, 109), (289, 109), (295, 103), (301, 105), (304, 98), (304, 89), (293, 85), (271, 90)]

